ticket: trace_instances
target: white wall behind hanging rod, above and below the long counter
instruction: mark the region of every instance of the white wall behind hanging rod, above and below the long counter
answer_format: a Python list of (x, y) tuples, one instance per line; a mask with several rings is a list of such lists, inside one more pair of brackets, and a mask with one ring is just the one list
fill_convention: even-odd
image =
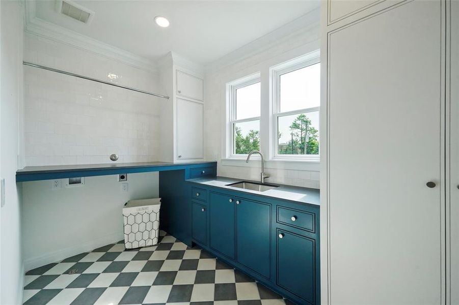
[[(87, 50), (25, 34), (24, 60), (161, 93), (159, 76)], [(27, 166), (159, 160), (159, 111), (168, 102), (76, 77), (24, 67)], [(29, 270), (123, 238), (122, 205), (158, 196), (157, 173), (86, 177), (85, 186), (51, 191), (51, 181), (23, 183), (24, 265)]]

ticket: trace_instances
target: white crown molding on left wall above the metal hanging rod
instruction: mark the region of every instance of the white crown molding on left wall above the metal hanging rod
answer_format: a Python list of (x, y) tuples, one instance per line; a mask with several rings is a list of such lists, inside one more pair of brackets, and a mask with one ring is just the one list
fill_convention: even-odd
[(77, 49), (83, 49), (134, 68), (158, 74), (155, 63), (142, 56), (78, 34), (65, 27), (47, 22), (36, 16), (35, 1), (25, 2), (25, 32), (57, 41)]

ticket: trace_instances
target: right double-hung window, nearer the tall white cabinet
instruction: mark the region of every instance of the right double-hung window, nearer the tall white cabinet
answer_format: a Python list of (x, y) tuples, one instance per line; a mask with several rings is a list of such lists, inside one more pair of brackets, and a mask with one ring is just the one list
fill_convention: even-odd
[(271, 69), (274, 159), (318, 161), (319, 60), (315, 52)]

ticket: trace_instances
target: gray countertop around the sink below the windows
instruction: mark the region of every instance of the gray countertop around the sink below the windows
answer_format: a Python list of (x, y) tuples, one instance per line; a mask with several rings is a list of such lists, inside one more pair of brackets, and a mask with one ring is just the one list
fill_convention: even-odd
[[(276, 199), (285, 199), (289, 201), (294, 201), (298, 203), (307, 203), (307, 204), (314, 204), (320, 205), (320, 191), (317, 189), (309, 189), (309, 188), (300, 188), (300, 187), (292, 187), (292, 186), (285, 186), (285, 185), (278, 185), (278, 188), (267, 190), (265, 192), (258, 192), (252, 190), (245, 190), (227, 186), (228, 184), (232, 184), (234, 182), (242, 181), (243, 179), (235, 179), (235, 178), (228, 178), (228, 177), (206, 177), (206, 178), (196, 178), (196, 179), (188, 179), (187, 181), (193, 182), (195, 184), (201, 184), (205, 186), (217, 187), (221, 189), (239, 191), (244, 193), (249, 193), (253, 195), (268, 197), (268, 198), (276, 198)], [(249, 181), (249, 180), (244, 180)], [(257, 181), (253, 181), (257, 182)]]

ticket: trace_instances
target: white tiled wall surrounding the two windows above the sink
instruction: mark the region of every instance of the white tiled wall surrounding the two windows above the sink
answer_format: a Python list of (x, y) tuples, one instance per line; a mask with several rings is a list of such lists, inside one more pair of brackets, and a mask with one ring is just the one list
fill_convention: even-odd
[[(226, 83), (259, 71), (262, 73), (262, 81), (263, 77), (265, 77), (264, 81), (267, 81), (266, 73), (269, 67), (316, 50), (319, 46), (319, 27), (318, 24), (314, 24), (309, 27), (308, 31), (292, 35), (288, 40), (266, 51), (254, 54), (237, 64), (222, 67), (217, 71), (210, 71), (206, 74), (204, 151), (207, 160), (217, 160), (219, 162), (218, 175), (252, 180), (260, 178), (260, 168), (258, 166), (230, 166), (222, 165), (221, 163), (225, 138)], [(214, 67), (215, 65), (212, 64), (212, 66)], [(267, 99), (262, 94), (263, 98)], [(266, 172), (271, 175), (266, 181), (300, 187), (319, 188), (318, 170), (292, 170), (287, 168), (269, 168), (269, 166), (266, 166)]]

